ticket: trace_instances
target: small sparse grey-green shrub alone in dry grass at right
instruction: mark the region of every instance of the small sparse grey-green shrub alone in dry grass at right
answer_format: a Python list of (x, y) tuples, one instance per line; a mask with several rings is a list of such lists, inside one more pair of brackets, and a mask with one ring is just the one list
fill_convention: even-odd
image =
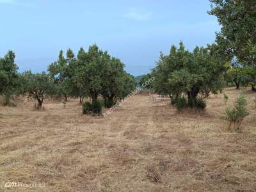
[(228, 129), (233, 125), (234, 131), (239, 131), (244, 117), (248, 116), (247, 101), (244, 93), (240, 93), (237, 97), (233, 108), (226, 108), (225, 120), (229, 122)]

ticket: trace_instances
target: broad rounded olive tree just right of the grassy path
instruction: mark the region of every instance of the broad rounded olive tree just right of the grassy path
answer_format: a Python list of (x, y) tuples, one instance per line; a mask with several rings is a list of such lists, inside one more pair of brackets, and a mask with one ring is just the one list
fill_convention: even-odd
[(152, 70), (154, 90), (171, 98), (175, 95), (176, 99), (177, 95), (184, 93), (189, 103), (197, 103), (198, 93), (222, 90), (226, 62), (218, 57), (214, 45), (196, 47), (189, 52), (180, 42), (179, 49), (173, 45), (169, 55), (161, 53), (157, 67)]

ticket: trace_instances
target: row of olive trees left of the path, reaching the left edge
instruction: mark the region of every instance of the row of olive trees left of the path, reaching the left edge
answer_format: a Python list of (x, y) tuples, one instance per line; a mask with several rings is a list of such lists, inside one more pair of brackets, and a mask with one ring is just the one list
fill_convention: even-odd
[(89, 97), (92, 104), (97, 104), (101, 96), (104, 105), (110, 108), (136, 86), (134, 77), (125, 72), (124, 64), (97, 45), (90, 46), (88, 52), (81, 48), (77, 56), (71, 49), (66, 57), (60, 51), (58, 61), (49, 65), (49, 73), (19, 74), (14, 59), (15, 54), (10, 51), (0, 60), (0, 93), (6, 105), (12, 95), (22, 93), (36, 99), (38, 108), (42, 108), (46, 96), (61, 96), (66, 101), (68, 97), (79, 97), (80, 102)]

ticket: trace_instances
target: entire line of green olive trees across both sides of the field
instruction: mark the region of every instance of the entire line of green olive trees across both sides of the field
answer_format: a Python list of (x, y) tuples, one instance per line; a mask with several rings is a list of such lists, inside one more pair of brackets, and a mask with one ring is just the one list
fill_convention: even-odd
[[(215, 42), (193, 51), (188, 51), (182, 42), (179, 47), (172, 45), (169, 54), (160, 54), (152, 72), (141, 77), (140, 84), (154, 77), (146, 88), (169, 95), (178, 109), (204, 109), (202, 97), (222, 92), (230, 84), (237, 89), (241, 85), (251, 86), (256, 91), (256, 1), (210, 2), (208, 13), (216, 16), (221, 25)], [(97, 45), (90, 46), (88, 52), (79, 49), (77, 56), (71, 49), (66, 56), (60, 51), (48, 73), (19, 74), (14, 59), (12, 51), (0, 58), (0, 93), (6, 105), (10, 105), (12, 95), (20, 93), (36, 99), (38, 108), (46, 95), (57, 95), (64, 101), (79, 97), (80, 102), (88, 97), (92, 102), (83, 103), (84, 113), (100, 113), (102, 106), (111, 108), (136, 87), (122, 61), (99, 50)]]

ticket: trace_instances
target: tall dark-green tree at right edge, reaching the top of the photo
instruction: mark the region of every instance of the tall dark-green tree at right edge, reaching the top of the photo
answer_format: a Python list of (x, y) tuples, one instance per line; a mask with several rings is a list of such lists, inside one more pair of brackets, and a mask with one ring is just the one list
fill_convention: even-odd
[(236, 60), (227, 72), (227, 81), (234, 82), (237, 89), (242, 84), (250, 85), (256, 91), (256, 1), (210, 2), (209, 14), (216, 16), (221, 25), (216, 34), (218, 51), (226, 58)]

